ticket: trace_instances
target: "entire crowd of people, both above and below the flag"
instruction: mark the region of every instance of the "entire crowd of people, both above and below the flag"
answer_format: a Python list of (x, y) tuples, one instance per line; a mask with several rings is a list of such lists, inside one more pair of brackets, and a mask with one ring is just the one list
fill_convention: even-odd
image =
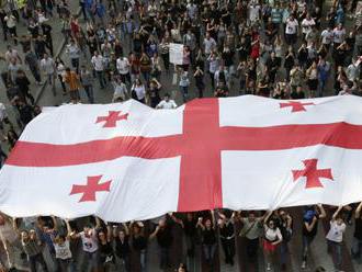
[[(0, 103), (4, 141), (1, 163), (22, 129), (41, 113), (35, 98), (39, 88), (52, 91), (54, 98), (61, 95), (64, 103), (97, 103), (98, 90), (111, 89), (109, 102), (135, 99), (155, 109), (176, 109), (176, 101), (183, 103), (203, 97), (361, 95), (360, 2), (79, 0), (77, 13), (70, 0), (3, 0), (0, 21), (8, 47), (0, 60), (5, 66), (1, 79), (8, 100)], [(55, 33), (53, 22), (61, 25), (61, 33)], [(20, 27), (25, 27), (26, 34), (19, 35)], [(59, 55), (54, 46), (55, 35), (63, 35), (66, 44)], [(170, 61), (171, 43), (183, 44), (182, 65)], [(352, 254), (360, 258), (361, 204), (355, 206), (347, 207), (346, 223), (351, 223), (355, 209)], [(337, 270), (341, 270), (346, 229), (340, 212), (337, 209), (331, 217), (327, 235), (328, 249), (337, 256), (333, 258)], [(323, 206), (305, 208), (303, 269), (307, 268), (309, 246), (324, 217)], [(287, 245), (294, 239), (293, 218), (284, 209), (262, 216), (230, 211), (170, 214), (155, 226), (95, 220), (95, 227), (84, 226), (80, 231), (71, 225), (73, 222), (60, 218), (29, 220), (3, 215), (0, 234), (8, 252), (4, 265), (14, 264), (14, 252), (21, 252), (32, 271), (36, 271), (36, 263), (49, 271), (42, 256), (46, 245), (57, 271), (75, 271), (78, 260), (71, 245), (80, 239), (88, 258), (86, 264), (94, 271), (112, 265), (132, 271), (131, 252), (137, 252), (145, 271), (147, 243), (155, 238), (160, 247), (160, 265), (167, 268), (173, 240), (171, 228), (177, 224), (184, 230), (188, 256), (194, 254), (200, 242), (211, 269), (218, 243), (224, 249), (225, 262), (230, 265), (236, 262), (235, 242), (239, 235), (247, 245), (250, 263), (258, 263), (262, 240), (267, 270), (273, 267), (275, 252), (285, 269)], [(237, 235), (236, 223), (242, 226)], [(182, 264), (178, 271), (186, 268)]]

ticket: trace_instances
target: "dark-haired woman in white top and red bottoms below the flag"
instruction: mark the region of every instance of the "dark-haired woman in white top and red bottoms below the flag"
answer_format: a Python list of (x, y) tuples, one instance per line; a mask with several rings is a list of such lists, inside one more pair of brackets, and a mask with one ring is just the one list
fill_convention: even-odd
[(276, 247), (283, 241), (283, 236), (276, 223), (273, 219), (270, 219), (270, 216), (273, 212), (268, 212), (264, 217), (264, 240), (263, 249), (267, 258), (267, 271), (271, 270), (271, 262), (274, 259)]

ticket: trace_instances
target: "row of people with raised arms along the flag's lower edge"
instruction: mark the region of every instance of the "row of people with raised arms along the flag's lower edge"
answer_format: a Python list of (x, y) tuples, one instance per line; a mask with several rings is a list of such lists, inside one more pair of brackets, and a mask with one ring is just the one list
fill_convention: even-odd
[[(350, 206), (331, 208), (329, 230), (326, 233), (327, 250), (331, 254), (336, 271), (342, 271), (343, 234), (354, 217), (354, 237), (352, 257), (360, 259), (362, 253), (362, 202)], [(229, 209), (203, 211), (196, 213), (169, 213), (157, 220), (128, 222), (123, 224), (105, 223), (98, 217), (87, 220), (63, 220), (54, 216), (10, 218), (0, 216), (0, 236), (7, 252), (3, 267), (18, 268), (29, 265), (32, 272), (41, 265), (43, 271), (147, 271), (147, 249), (150, 240), (158, 245), (159, 268), (161, 271), (172, 268), (171, 250), (176, 243), (176, 229), (183, 235), (177, 247), (185, 247), (182, 260), (194, 258), (197, 249), (202, 251), (208, 271), (215, 271), (218, 258), (217, 246), (223, 248), (225, 263), (234, 265), (238, 240), (246, 249), (246, 262), (260, 271), (258, 256), (261, 249), (265, 259), (265, 269), (287, 269), (291, 258), (289, 243), (302, 239), (299, 249), (302, 270), (308, 267), (309, 251), (317, 236), (318, 223), (327, 217), (323, 205), (306, 206), (303, 209), (302, 234), (295, 234), (295, 223), (286, 209), (273, 212), (233, 212)], [(238, 226), (238, 227), (237, 227)], [(299, 236), (299, 237), (298, 237)], [(80, 245), (77, 246), (77, 240)], [(81, 248), (83, 258), (78, 253)], [(53, 265), (48, 268), (44, 251), (50, 256)], [(180, 252), (182, 254), (182, 251)], [(16, 254), (19, 258), (16, 259)], [(25, 259), (26, 257), (26, 259)], [(16, 263), (16, 260), (23, 260)], [(276, 267), (279, 265), (279, 267)], [(79, 270), (78, 270), (79, 269)], [(113, 270), (112, 270), (113, 269)], [(155, 268), (154, 268), (155, 269)], [(173, 267), (173, 269), (176, 269)], [(121, 270), (122, 271), (122, 270)], [(185, 272), (183, 263), (177, 269)], [(320, 268), (317, 271), (326, 271)]]

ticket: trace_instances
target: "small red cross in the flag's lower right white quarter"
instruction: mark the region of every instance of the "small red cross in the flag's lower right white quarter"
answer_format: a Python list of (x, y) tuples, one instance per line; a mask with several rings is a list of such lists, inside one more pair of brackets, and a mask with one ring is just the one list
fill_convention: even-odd
[(303, 160), (305, 168), (303, 170), (292, 170), (293, 180), (296, 181), (301, 177), (306, 177), (305, 188), (323, 188), (320, 178), (333, 180), (331, 169), (317, 169), (318, 159)]

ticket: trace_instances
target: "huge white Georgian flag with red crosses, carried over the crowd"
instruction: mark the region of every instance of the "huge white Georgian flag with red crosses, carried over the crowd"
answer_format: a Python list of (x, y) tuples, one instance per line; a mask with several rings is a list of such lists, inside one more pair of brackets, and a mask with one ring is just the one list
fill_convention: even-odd
[(64, 105), (32, 121), (0, 172), (0, 211), (110, 222), (218, 207), (362, 201), (362, 99)]

